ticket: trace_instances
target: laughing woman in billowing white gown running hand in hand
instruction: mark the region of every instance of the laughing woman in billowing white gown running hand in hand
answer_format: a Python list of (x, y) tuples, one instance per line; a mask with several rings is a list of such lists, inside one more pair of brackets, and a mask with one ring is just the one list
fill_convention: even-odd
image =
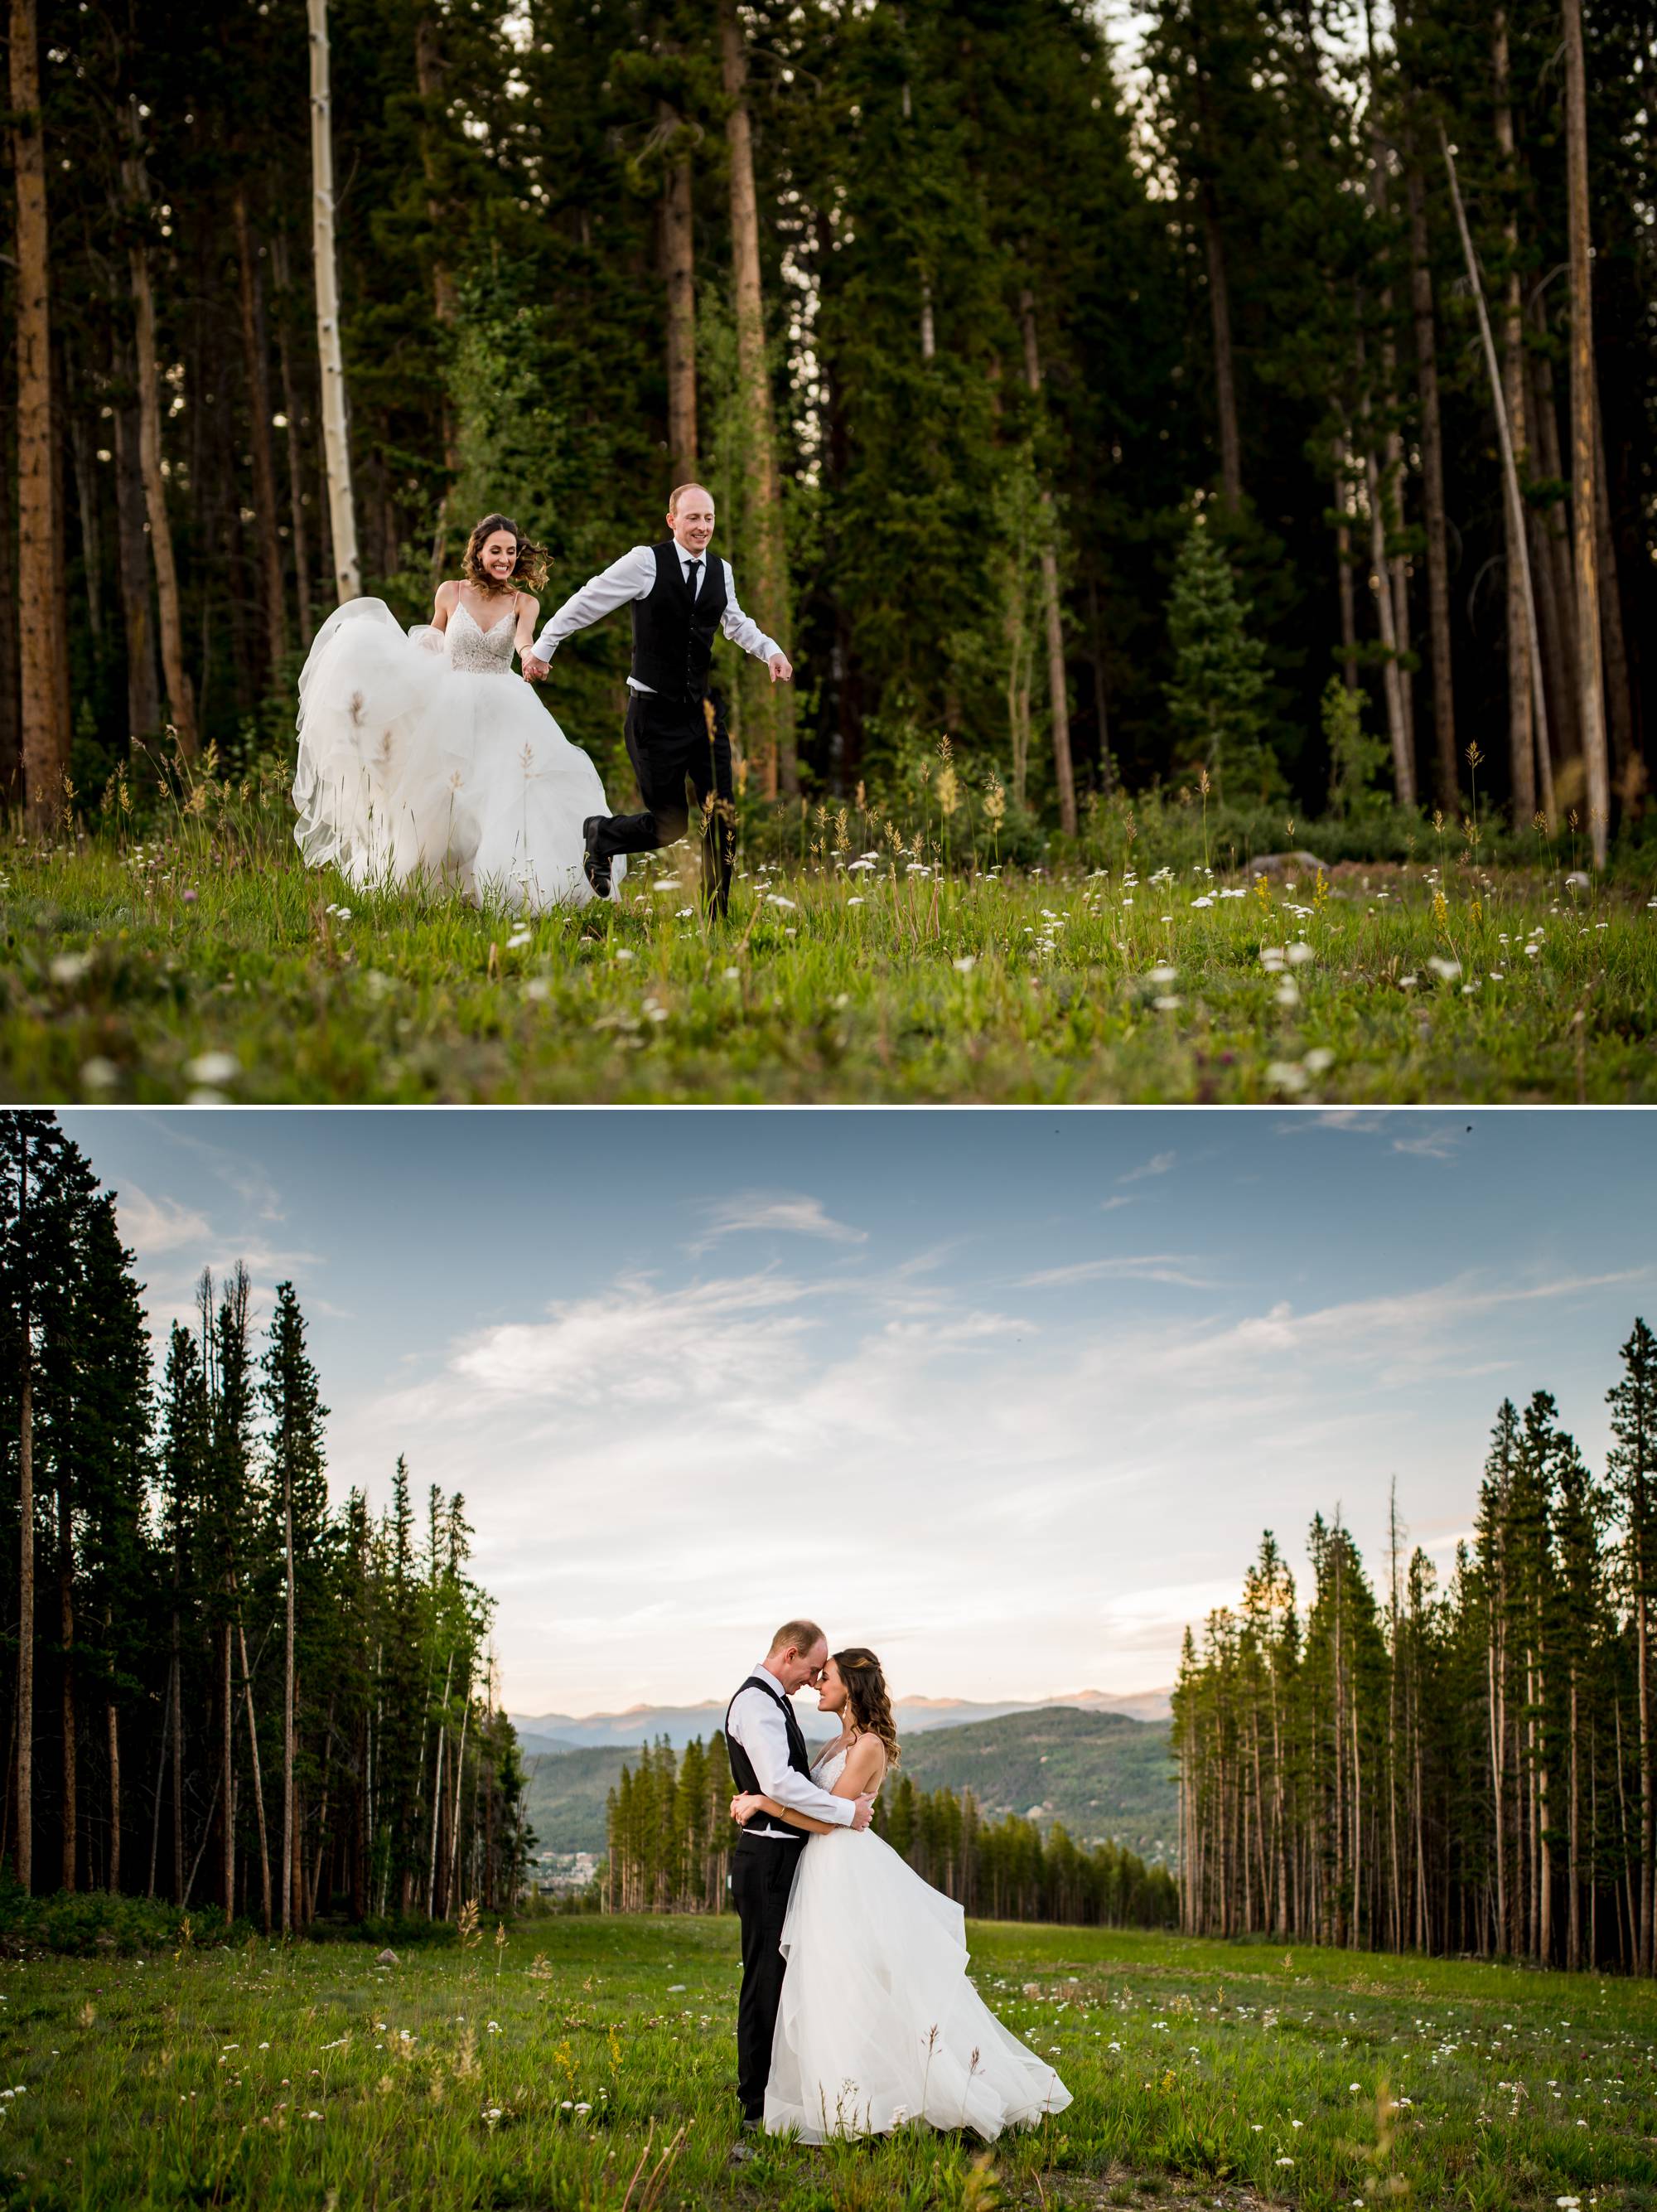
[(593, 896), (582, 823), (608, 814), (604, 785), (511, 668), (544, 575), (544, 551), (484, 515), (429, 624), (405, 633), (383, 599), (327, 617), (299, 677), (294, 838), (312, 865), (527, 914)]

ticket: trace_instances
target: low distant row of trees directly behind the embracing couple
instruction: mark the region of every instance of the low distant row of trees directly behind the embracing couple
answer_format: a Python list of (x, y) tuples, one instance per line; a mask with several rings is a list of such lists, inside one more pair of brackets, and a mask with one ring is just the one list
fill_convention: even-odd
[[(644, 1745), (608, 1798), (600, 1902), (613, 1913), (719, 1913), (737, 1829), (730, 1761), (715, 1730), (684, 1754)], [(1077, 1845), (1064, 1827), (982, 1820), (971, 1790), (916, 1790), (898, 1767), (874, 1803), (874, 1832), (916, 1874), (984, 1920), (1175, 1927), (1179, 1887), (1113, 1843)]]

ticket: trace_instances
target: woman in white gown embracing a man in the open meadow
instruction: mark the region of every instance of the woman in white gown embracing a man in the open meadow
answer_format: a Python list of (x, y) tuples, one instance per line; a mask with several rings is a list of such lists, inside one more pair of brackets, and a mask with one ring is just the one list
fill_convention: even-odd
[[(874, 1652), (834, 1652), (819, 1710), (841, 1734), (812, 1781), (834, 1796), (876, 1792), (898, 1759), (885, 1674)], [(765, 2086), (765, 2130), (821, 2143), (887, 2135), (907, 2119), (934, 2128), (1035, 2126), (1062, 2112), (1060, 2077), (996, 2020), (967, 1980), (965, 1913), (923, 1882), (874, 1829), (830, 1827), (759, 1794), (757, 1812), (807, 1827), (783, 1920), (783, 2002)]]

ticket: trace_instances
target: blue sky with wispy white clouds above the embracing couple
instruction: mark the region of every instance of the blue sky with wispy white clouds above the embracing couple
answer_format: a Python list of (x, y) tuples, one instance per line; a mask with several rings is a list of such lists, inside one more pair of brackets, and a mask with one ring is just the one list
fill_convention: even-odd
[[(1440, 1571), (1504, 1396), (1593, 1464), (1657, 1121), (1573, 1110), (66, 1110), (157, 1329), (292, 1279), (330, 1482), (460, 1489), (509, 1710), (1173, 1679), (1263, 1528)], [(1303, 1595), (1310, 1577), (1303, 1577)]]

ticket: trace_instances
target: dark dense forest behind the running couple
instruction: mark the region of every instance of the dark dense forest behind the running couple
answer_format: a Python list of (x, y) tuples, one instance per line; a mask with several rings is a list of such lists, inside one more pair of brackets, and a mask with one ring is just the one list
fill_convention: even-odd
[[(1137, 24), (9, 0), (0, 785), (281, 750), (338, 591), (411, 619), (504, 507), (553, 604), (697, 471), (799, 664), (726, 679), (750, 790), (947, 734), (1013, 845), (1201, 776), (1604, 843), (1657, 706), (1657, 0)], [(624, 628), (549, 697), (611, 774)]]

